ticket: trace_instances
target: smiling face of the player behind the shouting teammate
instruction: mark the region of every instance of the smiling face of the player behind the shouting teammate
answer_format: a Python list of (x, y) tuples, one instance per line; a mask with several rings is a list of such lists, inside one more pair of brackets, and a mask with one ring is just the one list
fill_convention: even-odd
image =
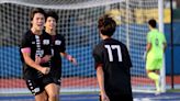
[(56, 29), (56, 20), (52, 16), (48, 16), (45, 23), (45, 27), (48, 30), (55, 30)]

